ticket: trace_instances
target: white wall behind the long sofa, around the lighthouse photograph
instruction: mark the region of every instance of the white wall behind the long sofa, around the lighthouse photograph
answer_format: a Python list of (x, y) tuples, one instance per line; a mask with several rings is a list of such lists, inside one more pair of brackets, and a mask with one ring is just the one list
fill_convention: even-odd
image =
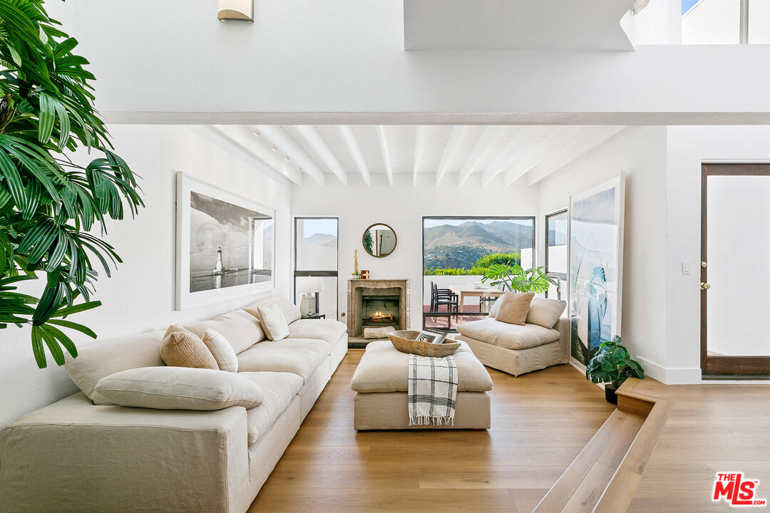
[[(188, 311), (174, 311), (175, 172), (186, 172), (235, 191), (264, 205), (276, 206), (276, 287), (290, 294), (290, 186), (265, 178), (184, 126), (114, 125), (116, 151), (142, 176), (146, 208), (135, 220), (110, 222), (105, 240), (123, 258), (112, 278), (102, 276), (95, 299), (102, 306), (73, 316), (99, 339), (166, 328), (239, 308), (255, 297), (233, 299)], [(40, 285), (40, 284), (37, 284)], [(82, 347), (89, 338), (73, 337)], [(38, 369), (29, 333), (0, 330), (0, 425), (76, 391), (75, 385), (49, 359)]]

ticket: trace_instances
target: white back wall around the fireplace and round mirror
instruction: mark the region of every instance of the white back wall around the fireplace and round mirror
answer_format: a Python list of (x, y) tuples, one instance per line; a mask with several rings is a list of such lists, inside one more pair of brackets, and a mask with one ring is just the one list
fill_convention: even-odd
[[(390, 187), (384, 175), (373, 175), (372, 185), (364, 185), (357, 175), (350, 173), (347, 186), (340, 185), (331, 176), (326, 177), (326, 186), (294, 185), (293, 215), (340, 218), (340, 312), (347, 310), (347, 280), (353, 272), (353, 250), (358, 249), (358, 266), (369, 269), (372, 278), (412, 281), (411, 327), (421, 328), (423, 216), (534, 215), (537, 212), (535, 188), (520, 184), (504, 187), (502, 182), (481, 188), (478, 179), (471, 178), (460, 188), (456, 185), (456, 176), (445, 177), (446, 185), (437, 187), (435, 175), (430, 174), (420, 176), (415, 188), (411, 175), (395, 175), (394, 185)], [(385, 258), (368, 255), (361, 245), (363, 230), (377, 222), (390, 225), (398, 237), (395, 251)], [(540, 225), (536, 228), (539, 230)]]

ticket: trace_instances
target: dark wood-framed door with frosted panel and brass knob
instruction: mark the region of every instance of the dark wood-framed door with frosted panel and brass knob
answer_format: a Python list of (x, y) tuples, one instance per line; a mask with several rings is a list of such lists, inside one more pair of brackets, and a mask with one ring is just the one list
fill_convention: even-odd
[(768, 375), (770, 165), (703, 167), (703, 373)]

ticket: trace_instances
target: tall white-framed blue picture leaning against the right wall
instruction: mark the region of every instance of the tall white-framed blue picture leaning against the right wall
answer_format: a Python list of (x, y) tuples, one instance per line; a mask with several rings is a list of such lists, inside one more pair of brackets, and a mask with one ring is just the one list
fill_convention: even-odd
[[(621, 335), (625, 176), (570, 196), (567, 237), (570, 356), (581, 365)], [(601, 275), (594, 279), (594, 269)]]

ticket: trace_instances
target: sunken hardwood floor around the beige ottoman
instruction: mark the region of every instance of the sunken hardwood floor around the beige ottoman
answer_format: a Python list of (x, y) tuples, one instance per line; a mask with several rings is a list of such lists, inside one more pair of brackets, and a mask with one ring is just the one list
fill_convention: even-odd
[(614, 406), (568, 365), (494, 380), (489, 431), (353, 431), (351, 349), (249, 513), (532, 511)]

